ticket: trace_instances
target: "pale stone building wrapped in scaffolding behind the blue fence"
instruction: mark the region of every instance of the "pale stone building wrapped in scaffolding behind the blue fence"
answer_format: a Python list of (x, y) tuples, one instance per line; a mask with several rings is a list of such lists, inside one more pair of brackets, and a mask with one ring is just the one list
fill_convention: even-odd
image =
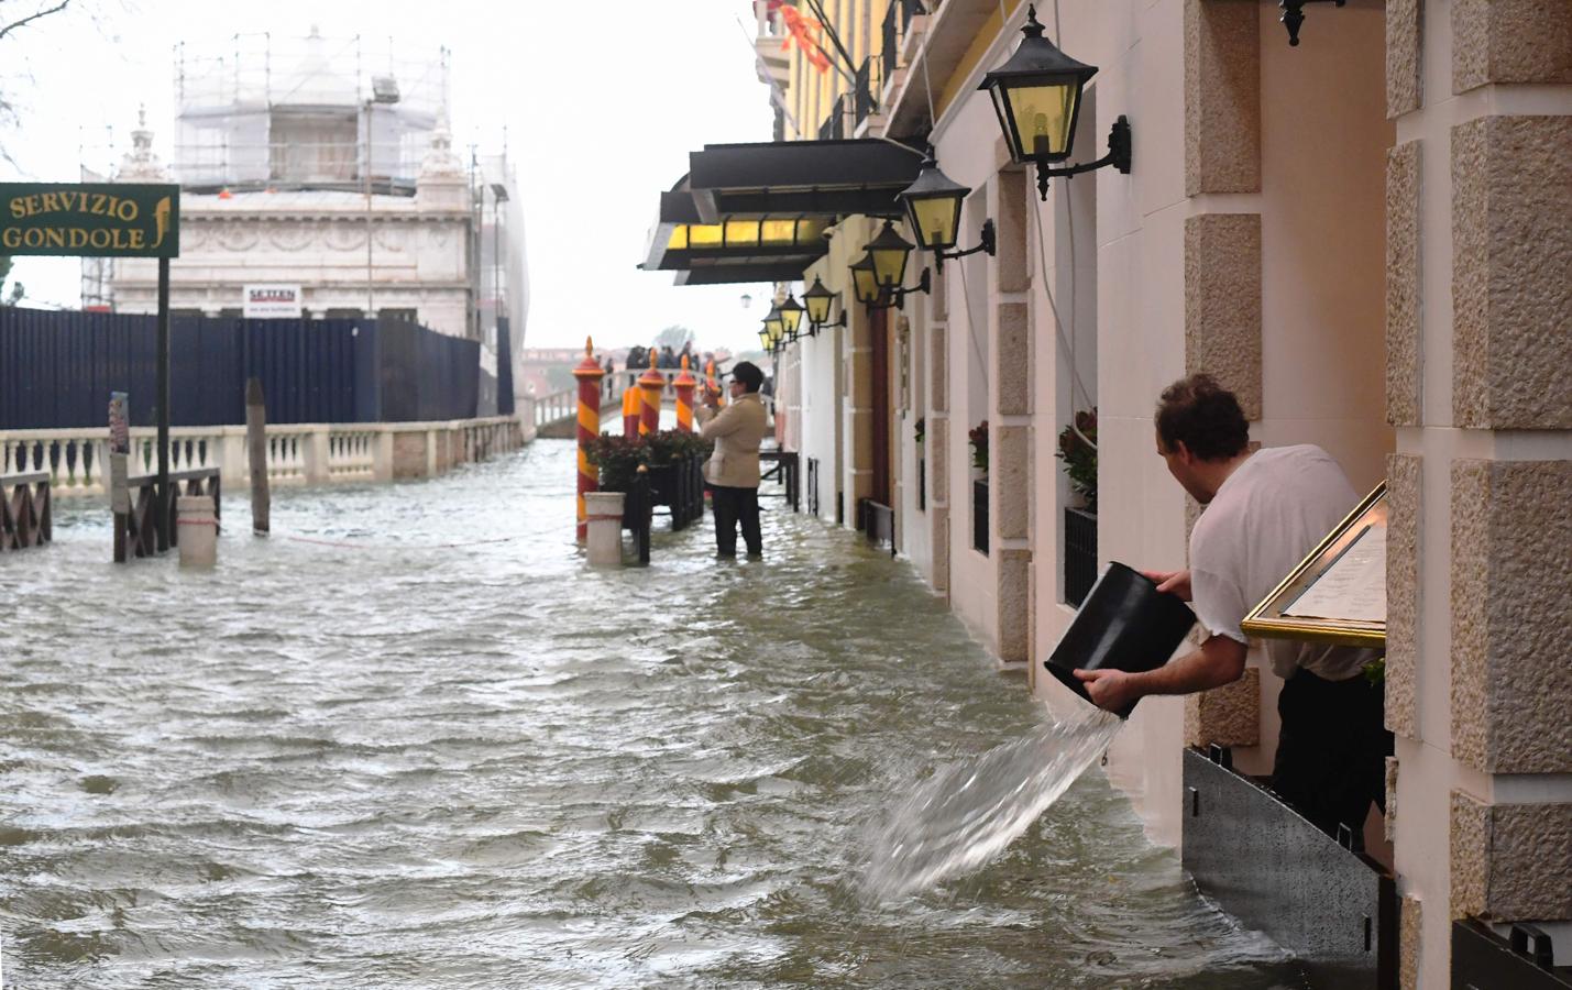
[[(115, 176), (182, 187), (171, 308), (244, 316), (248, 288), (281, 288), (307, 317), (479, 339), (495, 376), (498, 330), (523, 347), (522, 209), (506, 151), (454, 151), (448, 71), (445, 49), (418, 58), (314, 30), (176, 46), (173, 160), (143, 121)], [(121, 261), (110, 305), (151, 313), (156, 283), (154, 262)]]

